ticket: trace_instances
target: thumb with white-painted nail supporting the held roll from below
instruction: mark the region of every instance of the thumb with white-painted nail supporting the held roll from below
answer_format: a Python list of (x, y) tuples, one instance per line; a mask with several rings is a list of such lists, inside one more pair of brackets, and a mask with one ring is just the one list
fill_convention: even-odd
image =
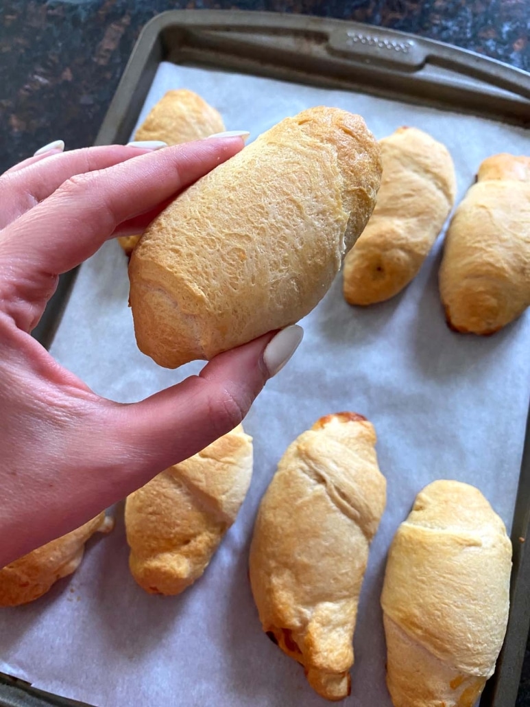
[(266, 380), (293, 356), (302, 336), (297, 325), (265, 334), (219, 354), (199, 375), (123, 406), (115, 429), (126, 440), (127, 458), (133, 460), (127, 484), (131, 486), (136, 475), (146, 483), (235, 428)]

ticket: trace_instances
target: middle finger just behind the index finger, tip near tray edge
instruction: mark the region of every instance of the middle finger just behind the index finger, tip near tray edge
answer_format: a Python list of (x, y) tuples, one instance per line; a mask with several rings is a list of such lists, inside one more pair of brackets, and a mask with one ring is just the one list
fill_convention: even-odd
[(102, 170), (147, 152), (109, 145), (64, 153), (49, 151), (24, 160), (0, 177), (0, 228), (47, 199), (74, 175)]

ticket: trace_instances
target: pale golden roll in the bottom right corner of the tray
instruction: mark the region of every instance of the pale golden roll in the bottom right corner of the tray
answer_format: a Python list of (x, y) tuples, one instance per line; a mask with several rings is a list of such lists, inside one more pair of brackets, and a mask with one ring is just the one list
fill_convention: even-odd
[(512, 545), (482, 493), (435, 481), (389, 551), (381, 604), (395, 707), (473, 707), (495, 670)]

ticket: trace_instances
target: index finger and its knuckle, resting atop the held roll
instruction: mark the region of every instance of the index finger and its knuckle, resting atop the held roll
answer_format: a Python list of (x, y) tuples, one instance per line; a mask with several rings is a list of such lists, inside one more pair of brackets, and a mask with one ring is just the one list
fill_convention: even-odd
[(66, 181), (0, 233), (4, 312), (29, 332), (58, 274), (93, 255), (119, 224), (155, 209), (242, 146), (242, 139), (231, 138), (167, 147)]

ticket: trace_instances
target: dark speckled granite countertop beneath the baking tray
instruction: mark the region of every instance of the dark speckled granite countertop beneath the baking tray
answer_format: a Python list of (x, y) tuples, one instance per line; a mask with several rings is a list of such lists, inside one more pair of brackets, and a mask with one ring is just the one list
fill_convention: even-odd
[[(530, 0), (3, 0), (0, 173), (55, 139), (67, 148), (91, 144), (141, 28), (175, 8), (351, 19), (449, 42), (530, 71)], [(528, 649), (517, 700), (517, 707), (526, 706)]]

